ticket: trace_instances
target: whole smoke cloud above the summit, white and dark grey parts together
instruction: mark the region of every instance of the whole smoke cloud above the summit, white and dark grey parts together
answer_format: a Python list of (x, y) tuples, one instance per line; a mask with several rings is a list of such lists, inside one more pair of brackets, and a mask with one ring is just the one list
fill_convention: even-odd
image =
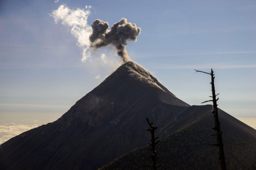
[[(126, 18), (113, 24), (110, 30), (108, 22), (100, 19), (96, 19), (90, 26), (87, 21), (91, 14), (90, 8), (92, 7), (85, 6), (85, 9), (70, 9), (66, 5), (60, 5), (49, 15), (54, 18), (56, 24), (61, 21), (63, 25), (71, 27), (71, 34), (77, 38), (77, 45), (83, 50), (82, 61), (90, 58), (92, 49), (98, 50), (108, 45), (115, 47), (123, 62), (130, 61), (125, 45), (127, 41), (137, 41), (141, 28), (127, 23)], [(101, 59), (107, 63), (106, 56), (101, 55)]]

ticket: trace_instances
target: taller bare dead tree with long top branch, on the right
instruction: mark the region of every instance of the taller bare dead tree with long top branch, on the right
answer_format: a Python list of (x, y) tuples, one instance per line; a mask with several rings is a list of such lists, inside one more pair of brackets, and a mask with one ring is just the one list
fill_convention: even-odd
[(205, 73), (205, 74), (209, 74), (212, 77), (212, 82), (210, 82), (212, 84), (212, 96), (209, 96), (209, 97), (212, 97), (212, 100), (204, 101), (202, 103), (209, 102), (209, 101), (213, 102), (213, 111), (212, 111), (212, 113), (214, 114), (213, 117), (214, 117), (214, 123), (215, 123), (215, 127), (213, 129), (215, 130), (216, 134), (213, 134), (211, 136), (216, 135), (217, 144), (210, 144), (210, 145), (218, 147), (218, 156), (219, 156), (219, 160), (220, 160), (220, 164), (221, 164), (221, 169), (226, 170), (226, 162), (225, 162), (223, 141), (222, 141), (222, 132), (221, 132), (221, 127), (220, 127), (221, 122), (219, 122), (218, 108), (217, 108), (217, 106), (218, 106), (217, 101), (218, 101), (219, 98), (216, 99), (216, 96), (219, 95), (220, 93), (215, 95), (215, 87), (214, 87), (214, 79), (215, 79), (214, 75), (215, 74), (213, 74), (214, 73), (213, 69), (211, 69), (210, 73), (203, 72), (203, 71), (198, 71), (198, 70), (196, 70), (196, 72), (202, 72), (202, 73)]

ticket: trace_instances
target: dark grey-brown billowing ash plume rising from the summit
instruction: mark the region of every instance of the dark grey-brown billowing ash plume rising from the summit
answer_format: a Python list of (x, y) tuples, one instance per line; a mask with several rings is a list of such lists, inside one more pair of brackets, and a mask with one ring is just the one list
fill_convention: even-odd
[(123, 62), (131, 61), (125, 50), (125, 45), (127, 45), (127, 41), (137, 41), (141, 28), (137, 27), (136, 24), (127, 23), (126, 18), (113, 24), (110, 30), (108, 22), (100, 19), (96, 19), (91, 26), (90, 47), (98, 50), (101, 47), (113, 45)]

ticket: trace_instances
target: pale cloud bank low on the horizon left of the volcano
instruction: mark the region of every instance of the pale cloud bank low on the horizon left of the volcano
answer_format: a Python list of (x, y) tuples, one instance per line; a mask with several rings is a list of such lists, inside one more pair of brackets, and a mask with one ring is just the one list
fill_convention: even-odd
[(10, 138), (14, 136), (17, 136), (35, 127), (38, 127), (38, 125), (0, 125), (0, 144), (8, 141)]

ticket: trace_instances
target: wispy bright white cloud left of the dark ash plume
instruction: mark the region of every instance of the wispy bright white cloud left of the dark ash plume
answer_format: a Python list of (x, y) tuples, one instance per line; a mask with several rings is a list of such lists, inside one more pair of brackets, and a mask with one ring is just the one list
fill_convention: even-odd
[(77, 38), (77, 45), (83, 50), (82, 61), (90, 57), (89, 36), (92, 33), (92, 28), (87, 22), (88, 16), (91, 14), (89, 10), (91, 6), (85, 6), (85, 8), (87, 10), (80, 8), (72, 10), (66, 5), (60, 5), (57, 10), (53, 10), (50, 14), (56, 24), (61, 21), (63, 25), (71, 27), (71, 34)]

